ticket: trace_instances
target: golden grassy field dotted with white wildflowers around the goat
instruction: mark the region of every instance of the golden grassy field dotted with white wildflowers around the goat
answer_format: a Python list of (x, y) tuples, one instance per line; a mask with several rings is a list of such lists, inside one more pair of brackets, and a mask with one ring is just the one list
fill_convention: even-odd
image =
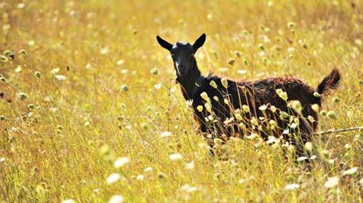
[(363, 202), (362, 132), (316, 136), (311, 170), (259, 139), (209, 156), (155, 39), (206, 33), (203, 74), (231, 79), (316, 88), (337, 66), (341, 86), (323, 102), (336, 118), (320, 130), (341, 129), (363, 125), (362, 11), (355, 0), (1, 1), (0, 201)]

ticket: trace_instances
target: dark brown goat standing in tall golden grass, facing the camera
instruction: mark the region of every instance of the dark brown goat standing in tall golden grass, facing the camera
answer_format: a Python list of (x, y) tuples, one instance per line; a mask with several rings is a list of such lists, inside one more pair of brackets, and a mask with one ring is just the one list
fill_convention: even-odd
[[(318, 111), (323, 97), (340, 83), (334, 68), (315, 90), (295, 77), (233, 81), (201, 75), (194, 54), (206, 41), (201, 35), (193, 45), (175, 45), (157, 36), (157, 42), (172, 55), (177, 83), (186, 100), (192, 100), (199, 129), (213, 146), (213, 139), (247, 136), (257, 132), (264, 139), (281, 137), (298, 145), (298, 153), (318, 128)], [(289, 100), (288, 100), (289, 98)], [(297, 142), (302, 141), (302, 142)]]

